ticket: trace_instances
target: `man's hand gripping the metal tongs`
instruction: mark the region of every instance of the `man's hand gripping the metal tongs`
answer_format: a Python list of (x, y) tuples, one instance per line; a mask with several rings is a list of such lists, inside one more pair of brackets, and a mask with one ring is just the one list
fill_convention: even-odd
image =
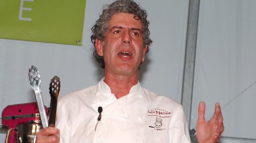
[(53, 124), (49, 127), (41, 129), (36, 134), (36, 143), (58, 143), (59, 142), (59, 133), (60, 130), (55, 128)]

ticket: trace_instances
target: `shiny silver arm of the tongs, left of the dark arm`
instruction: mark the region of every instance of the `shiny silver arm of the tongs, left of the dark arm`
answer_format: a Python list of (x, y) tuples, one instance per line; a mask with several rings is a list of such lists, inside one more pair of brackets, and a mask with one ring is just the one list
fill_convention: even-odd
[(39, 111), (42, 126), (43, 128), (48, 127), (47, 115), (45, 112), (42, 93), (40, 90), (40, 82), (41, 82), (40, 75), (37, 68), (33, 65), (29, 68), (29, 81), (35, 93), (37, 109)]

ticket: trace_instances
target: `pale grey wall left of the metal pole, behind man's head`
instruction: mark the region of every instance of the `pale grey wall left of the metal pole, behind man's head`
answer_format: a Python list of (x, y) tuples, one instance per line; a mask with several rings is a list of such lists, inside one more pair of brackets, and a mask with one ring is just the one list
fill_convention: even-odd
[[(7, 105), (35, 102), (28, 80), (31, 65), (38, 68), (44, 103), (50, 106), (49, 84), (60, 77), (59, 97), (92, 86), (103, 77), (92, 55), (91, 26), (101, 7), (113, 0), (87, 0), (82, 46), (0, 39), (0, 111)], [(137, 0), (148, 11), (153, 40), (139, 71), (141, 85), (181, 102), (188, 0)], [(5, 134), (0, 134), (4, 142)]]

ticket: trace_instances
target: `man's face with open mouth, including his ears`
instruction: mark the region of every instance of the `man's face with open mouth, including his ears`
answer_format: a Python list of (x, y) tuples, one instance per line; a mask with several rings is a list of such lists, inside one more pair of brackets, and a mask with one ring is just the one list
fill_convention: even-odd
[(143, 47), (141, 21), (134, 19), (134, 14), (118, 13), (109, 21), (104, 45), (97, 49), (97, 53), (104, 57), (105, 73), (134, 75), (138, 74), (146, 49), (147, 45)]

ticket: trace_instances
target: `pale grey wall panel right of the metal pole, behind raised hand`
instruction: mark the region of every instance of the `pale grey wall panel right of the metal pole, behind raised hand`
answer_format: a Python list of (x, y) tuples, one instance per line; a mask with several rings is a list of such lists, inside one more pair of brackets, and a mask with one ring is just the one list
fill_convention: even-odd
[(255, 0), (200, 1), (191, 129), (200, 101), (206, 120), (219, 102), (222, 136), (256, 139), (255, 7)]

